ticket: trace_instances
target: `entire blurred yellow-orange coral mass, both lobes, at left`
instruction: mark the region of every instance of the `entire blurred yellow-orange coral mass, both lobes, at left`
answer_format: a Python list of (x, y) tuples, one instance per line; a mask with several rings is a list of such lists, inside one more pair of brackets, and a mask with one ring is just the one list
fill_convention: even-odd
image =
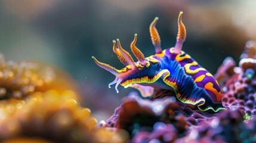
[(127, 141), (124, 131), (95, 129), (97, 120), (79, 104), (72, 80), (55, 72), (36, 63), (6, 62), (0, 54), (1, 142)]

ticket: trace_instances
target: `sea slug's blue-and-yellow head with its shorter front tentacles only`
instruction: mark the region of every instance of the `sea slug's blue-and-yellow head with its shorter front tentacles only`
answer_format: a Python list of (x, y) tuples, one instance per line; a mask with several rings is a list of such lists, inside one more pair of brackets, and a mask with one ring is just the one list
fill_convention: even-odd
[(135, 46), (136, 41), (137, 34), (134, 35), (134, 41), (131, 43), (131, 51), (138, 59), (137, 62), (134, 62), (131, 55), (122, 48), (119, 39), (117, 39), (117, 44), (116, 41), (113, 41), (113, 51), (121, 63), (126, 66), (121, 70), (117, 70), (109, 64), (101, 63), (95, 57), (92, 57), (98, 66), (116, 76), (115, 80), (109, 83), (109, 88), (110, 85), (116, 84), (116, 92), (118, 92), (119, 84), (129, 86), (134, 83), (154, 83), (164, 74), (159, 72), (161, 65), (158, 60), (153, 57), (144, 58), (143, 53)]

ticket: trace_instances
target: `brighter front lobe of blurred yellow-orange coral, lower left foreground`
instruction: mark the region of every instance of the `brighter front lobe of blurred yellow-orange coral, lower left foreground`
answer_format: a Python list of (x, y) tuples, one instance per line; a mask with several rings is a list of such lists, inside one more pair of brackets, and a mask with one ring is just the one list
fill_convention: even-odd
[(0, 105), (1, 139), (23, 134), (45, 136), (48, 132), (51, 136), (47, 138), (67, 135), (65, 138), (73, 141), (77, 136), (73, 138), (70, 132), (88, 132), (97, 124), (91, 111), (79, 105), (72, 91), (35, 92), (24, 100), (0, 101)]

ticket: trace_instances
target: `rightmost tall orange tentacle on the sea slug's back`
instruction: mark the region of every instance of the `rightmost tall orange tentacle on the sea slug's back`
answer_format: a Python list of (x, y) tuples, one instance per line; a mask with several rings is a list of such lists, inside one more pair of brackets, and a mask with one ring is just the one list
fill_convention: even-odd
[(181, 52), (183, 42), (186, 39), (186, 27), (184, 26), (184, 24), (181, 20), (182, 14), (183, 14), (183, 12), (180, 11), (180, 15), (178, 15), (178, 34), (177, 34), (177, 41), (176, 41), (176, 44), (174, 46), (174, 52), (175, 53), (180, 53)]

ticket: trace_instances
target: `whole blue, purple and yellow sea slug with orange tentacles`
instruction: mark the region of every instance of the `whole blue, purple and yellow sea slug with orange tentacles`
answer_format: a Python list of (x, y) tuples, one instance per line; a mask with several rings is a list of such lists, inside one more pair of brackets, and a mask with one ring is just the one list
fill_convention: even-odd
[(224, 109), (221, 103), (221, 90), (217, 80), (209, 71), (201, 67), (190, 55), (181, 51), (183, 42), (186, 39), (186, 29), (181, 21), (182, 12), (178, 17), (178, 35), (174, 48), (167, 48), (162, 51), (161, 39), (156, 30), (158, 17), (150, 24), (150, 36), (155, 46), (155, 55), (147, 58), (135, 46), (137, 34), (131, 43), (131, 51), (138, 59), (134, 62), (131, 55), (125, 51), (119, 39), (113, 41), (113, 51), (118, 55), (119, 60), (126, 67), (117, 70), (108, 64), (100, 63), (92, 57), (95, 63), (103, 69), (110, 71), (116, 76), (113, 85), (133, 87), (143, 92), (144, 89), (153, 88), (174, 90), (176, 97), (186, 104), (198, 105), (199, 110), (213, 110), (215, 112)]

